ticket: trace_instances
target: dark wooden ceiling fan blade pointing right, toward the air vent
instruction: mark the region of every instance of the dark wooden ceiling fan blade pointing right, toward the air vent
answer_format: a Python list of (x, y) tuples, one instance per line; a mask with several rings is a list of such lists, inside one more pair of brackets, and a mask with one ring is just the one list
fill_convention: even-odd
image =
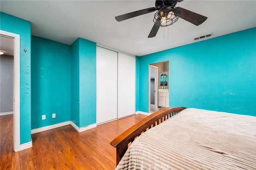
[(200, 14), (197, 14), (195, 12), (192, 12), (190, 10), (186, 10), (184, 8), (178, 7), (180, 9), (180, 18), (196, 25), (199, 26), (200, 24), (202, 24), (207, 17), (206, 16), (202, 16)]

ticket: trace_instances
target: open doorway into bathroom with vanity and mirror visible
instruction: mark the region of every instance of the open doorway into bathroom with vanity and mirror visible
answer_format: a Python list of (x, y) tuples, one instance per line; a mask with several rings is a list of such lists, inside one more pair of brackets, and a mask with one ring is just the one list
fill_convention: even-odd
[[(161, 75), (164, 77), (163, 83)], [(149, 67), (149, 113), (169, 107), (169, 61), (152, 63)], [(160, 96), (159, 96), (160, 95)], [(163, 95), (163, 96), (162, 96)], [(160, 102), (160, 103), (159, 103)], [(162, 104), (164, 103), (164, 105)]]

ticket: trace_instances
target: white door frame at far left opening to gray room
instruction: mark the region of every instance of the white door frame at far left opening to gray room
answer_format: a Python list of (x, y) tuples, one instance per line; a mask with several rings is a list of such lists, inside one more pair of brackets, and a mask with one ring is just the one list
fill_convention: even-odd
[(20, 35), (0, 30), (0, 35), (14, 39), (14, 152), (20, 150)]

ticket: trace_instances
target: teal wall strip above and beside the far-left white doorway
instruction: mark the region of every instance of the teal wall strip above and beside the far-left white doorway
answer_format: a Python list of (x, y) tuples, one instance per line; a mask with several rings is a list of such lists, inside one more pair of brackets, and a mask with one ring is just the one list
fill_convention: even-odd
[(20, 144), (24, 144), (31, 141), (31, 22), (0, 12), (0, 30), (20, 35)]

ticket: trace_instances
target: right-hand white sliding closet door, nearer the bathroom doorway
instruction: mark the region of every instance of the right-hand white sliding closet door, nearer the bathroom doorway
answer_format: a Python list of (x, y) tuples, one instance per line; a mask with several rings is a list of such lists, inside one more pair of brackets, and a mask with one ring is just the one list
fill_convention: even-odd
[(136, 59), (118, 53), (118, 118), (135, 113)]

